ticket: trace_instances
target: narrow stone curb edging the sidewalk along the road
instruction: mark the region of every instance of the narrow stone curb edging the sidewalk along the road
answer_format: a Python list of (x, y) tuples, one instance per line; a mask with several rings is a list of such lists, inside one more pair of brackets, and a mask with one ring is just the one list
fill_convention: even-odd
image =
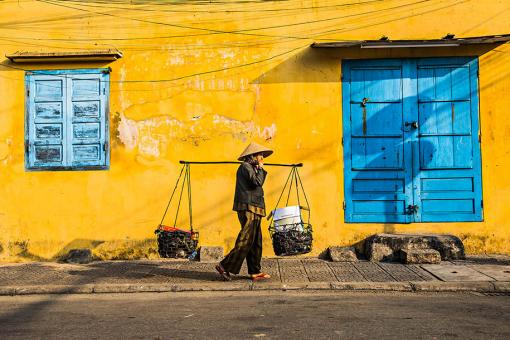
[(206, 284), (87, 284), (82, 286), (41, 285), (0, 287), (0, 296), (40, 294), (104, 294), (226, 291), (394, 291), (394, 292), (479, 292), (510, 293), (510, 282), (303, 282), (303, 283), (231, 283)]

